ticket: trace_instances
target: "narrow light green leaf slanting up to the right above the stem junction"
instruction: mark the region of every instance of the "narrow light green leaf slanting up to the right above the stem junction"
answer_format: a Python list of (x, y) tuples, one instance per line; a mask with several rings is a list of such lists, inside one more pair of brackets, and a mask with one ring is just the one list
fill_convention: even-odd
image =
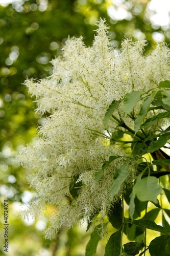
[(152, 100), (154, 98), (156, 94), (156, 91), (154, 91), (150, 96), (146, 97), (143, 101), (143, 103), (140, 105), (140, 112), (137, 116), (137, 118), (135, 119), (135, 132), (137, 133), (137, 131), (139, 130), (140, 128), (140, 125), (142, 124), (145, 116), (147, 115), (148, 113), (148, 110), (150, 108), (150, 105), (152, 103)]

